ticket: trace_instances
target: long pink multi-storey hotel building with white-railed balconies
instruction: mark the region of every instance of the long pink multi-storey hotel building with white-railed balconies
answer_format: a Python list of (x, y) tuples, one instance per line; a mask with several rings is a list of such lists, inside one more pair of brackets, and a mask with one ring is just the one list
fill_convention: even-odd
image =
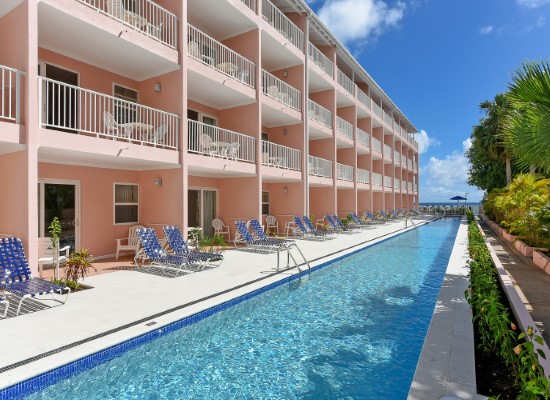
[(54, 215), (106, 256), (138, 222), (418, 204), (416, 129), (303, 0), (2, 0), (0, 79), (30, 260)]

